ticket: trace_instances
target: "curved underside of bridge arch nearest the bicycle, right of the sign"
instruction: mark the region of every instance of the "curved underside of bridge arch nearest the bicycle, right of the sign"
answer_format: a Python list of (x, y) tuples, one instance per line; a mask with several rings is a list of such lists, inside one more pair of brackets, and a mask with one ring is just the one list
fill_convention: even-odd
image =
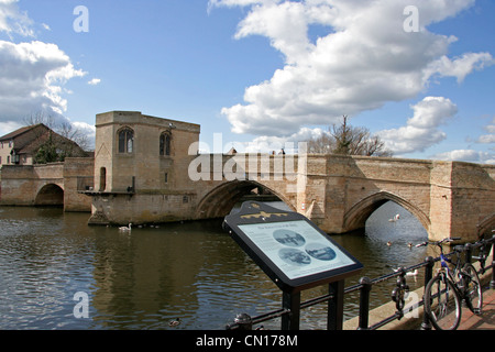
[(344, 216), (343, 228), (344, 232), (350, 232), (359, 229), (364, 229), (367, 218), (381, 206), (383, 206), (387, 201), (394, 201), (410, 213), (413, 213), (419, 222), (422, 224), (425, 230), (429, 232), (430, 229), (430, 219), (428, 216), (411, 205), (409, 201), (404, 198), (393, 195), (387, 191), (380, 191), (370, 197), (366, 197), (355, 204)]

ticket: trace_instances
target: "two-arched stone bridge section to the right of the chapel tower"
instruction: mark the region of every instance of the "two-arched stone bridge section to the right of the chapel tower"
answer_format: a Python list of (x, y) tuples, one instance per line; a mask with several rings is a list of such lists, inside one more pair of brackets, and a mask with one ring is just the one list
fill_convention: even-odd
[(279, 157), (267, 156), (270, 174), (260, 172), (260, 162), (245, 180), (212, 182), (197, 189), (194, 218), (223, 217), (242, 195), (260, 186), (328, 233), (363, 229), (366, 219), (391, 200), (411, 212), (430, 239), (473, 240), (495, 229), (495, 166), (308, 155), (296, 156), (294, 174), (276, 179), (273, 164)]

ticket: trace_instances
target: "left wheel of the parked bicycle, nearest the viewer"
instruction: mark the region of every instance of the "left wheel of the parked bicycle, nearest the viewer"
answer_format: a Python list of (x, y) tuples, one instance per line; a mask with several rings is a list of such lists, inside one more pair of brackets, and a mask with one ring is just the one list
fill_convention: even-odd
[(455, 330), (461, 322), (461, 299), (442, 273), (425, 288), (425, 312), (437, 330)]

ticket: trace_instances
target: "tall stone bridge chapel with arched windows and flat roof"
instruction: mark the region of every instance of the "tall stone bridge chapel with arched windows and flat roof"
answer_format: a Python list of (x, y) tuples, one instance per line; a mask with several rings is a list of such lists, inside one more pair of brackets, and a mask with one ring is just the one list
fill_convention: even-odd
[(162, 222), (188, 212), (199, 132), (198, 124), (138, 111), (97, 114), (89, 222)]

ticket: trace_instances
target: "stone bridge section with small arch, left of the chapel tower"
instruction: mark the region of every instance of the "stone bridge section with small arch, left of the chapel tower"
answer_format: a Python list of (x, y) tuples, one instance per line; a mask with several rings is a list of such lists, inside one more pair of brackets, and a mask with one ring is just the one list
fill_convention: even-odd
[(0, 205), (64, 207), (90, 211), (91, 200), (79, 191), (94, 184), (94, 158), (67, 158), (47, 165), (4, 165)]

